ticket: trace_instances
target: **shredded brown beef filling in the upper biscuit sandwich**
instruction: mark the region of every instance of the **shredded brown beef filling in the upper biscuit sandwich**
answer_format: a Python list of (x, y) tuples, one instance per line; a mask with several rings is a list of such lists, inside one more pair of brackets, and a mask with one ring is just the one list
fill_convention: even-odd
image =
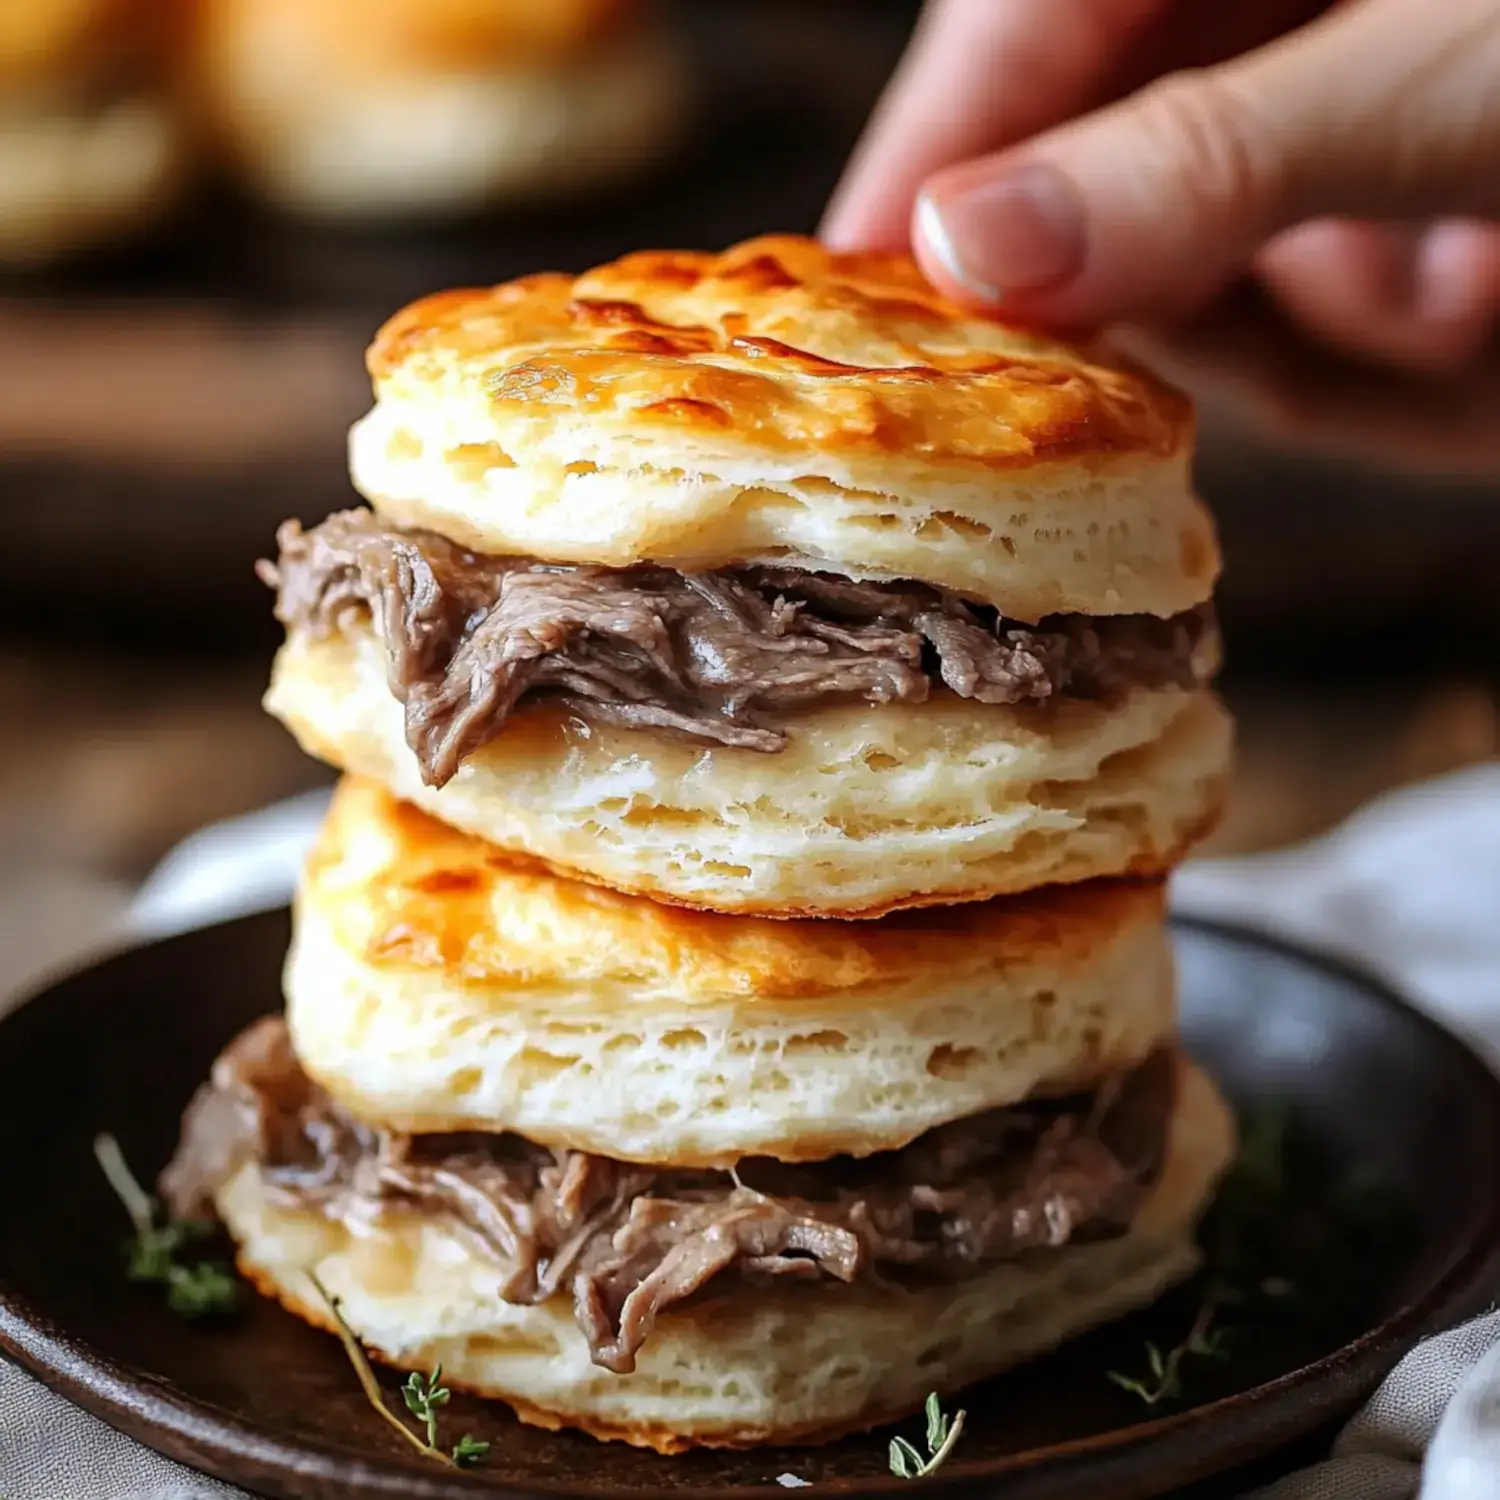
[(314, 634), (372, 618), (432, 786), (537, 696), (594, 723), (776, 752), (788, 716), (824, 704), (920, 704), (936, 684), (981, 704), (1110, 699), (1191, 687), (1215, 664), (1208, 606), (1030, 627), (924, 584), (486, 556), (366, 510), (286, 522), (278, 543), (260, 570), (278, 618)]

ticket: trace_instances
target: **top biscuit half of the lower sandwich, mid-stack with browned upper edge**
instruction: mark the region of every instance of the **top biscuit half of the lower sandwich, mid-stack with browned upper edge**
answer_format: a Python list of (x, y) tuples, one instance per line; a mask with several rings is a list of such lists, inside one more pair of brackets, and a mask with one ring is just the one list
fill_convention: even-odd
[(399, 1130), (634, 1161), (890, 1150), (1173, 1029), (1162, 890), (777, 922), (562, 879), (346, 780), (303, 874), (303, 1068)]

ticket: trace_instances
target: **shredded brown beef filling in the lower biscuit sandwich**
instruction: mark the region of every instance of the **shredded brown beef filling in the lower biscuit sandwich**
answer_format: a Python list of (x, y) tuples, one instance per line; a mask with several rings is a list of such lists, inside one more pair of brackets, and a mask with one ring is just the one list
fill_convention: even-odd
[(594, 1362), (626, 1372), (660, 1312), (732, 1278), (954, 1281), (1024, 1252), (1124, 1233), (1161, 1170), (1176, 1095), (1162, 1048), (1092, 1094), (942, 1125), (900, 1150), (734, 1173), (651, 1167), (512, 1134), (357, 1124), (297, 1064), (279, 1017), (219, 1058), (162, 1178), (212, 1212), (242, 1166), (334, 1220), (438, 1214), (502, 1268), (501, 1296), (572, 1293)]

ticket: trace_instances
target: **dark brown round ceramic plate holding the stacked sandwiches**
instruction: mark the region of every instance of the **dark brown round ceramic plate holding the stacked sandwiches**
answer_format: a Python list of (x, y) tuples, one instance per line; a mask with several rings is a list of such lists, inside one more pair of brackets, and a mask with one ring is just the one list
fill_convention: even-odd
[[(1108, 1378), (1143, 1372), (1146, 1341), (1182, 1341), (1198, 1284), (992, 1380), (964, 1396), (966, 1436), (932, 1492), (1004, 1482), (1006, 1500), (1132, 1500), (1222, 1474), (1324, 1428), (1496, 1287), (1500, 1082), (1356, 974), (1224, 928), (1178, 936), (1188, 1046), (1250, 1122), (1260, 1164), (1236, 1179), (1228, 1347), (1186, 1359), (1182, 1394), (1156, 1406)], [(153, 1448), (276, 1497), (706, 1500), (786, 1494), (788, 1473), (842, 1496), (904, 1491), (888, 1432), (666, 1460), (468, 1398), (448, 1408), (453, 1431), (494, 1449), (454, 1476), (402, 1450), (332, 1338), (254, 1298), (230, 1323), (184, 1324), (129, 1284), (90, 1140), (111, 1130), (138, 1168), (159, 1167), (213, 1054), (274, 1008), (285, 945), (284, 915), (177, 938), (0, 1023), (0, 1348)]]

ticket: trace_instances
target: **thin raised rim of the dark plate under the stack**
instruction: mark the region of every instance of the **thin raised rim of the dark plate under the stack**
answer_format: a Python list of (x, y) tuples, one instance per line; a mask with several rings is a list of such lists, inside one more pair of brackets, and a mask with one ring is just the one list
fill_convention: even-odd
[[(236, 927), (266, 926), (270, 921), (285, 921), (286, 906), (267, 908), (236, 916), (226, 922), (213, 922), (189, 932), (174, 933), (150, 942), (116, 948), (86, 963), (44, 978), (39, 986), (22, 993), (20, 1000), (8, 1006), (0, 1017), (0, 1036), (4, 1028), (28, 1011), (34, 1004), (45, 1002), (56, 990), (100, 969), (128, 966), (142, 954), (177, 944), (190, 944), (206, 933), (224, 933)], [(1383, 1010), (1398, 1011), (1408, 1023), (1428, 1035), (1432, 1046), (1446, 1048), (1454, 1062), (1467, 1070), (1474, 1083), (1474, 1096), (1485, 1100), (1494, 1125), (1494, 1140), (1500, 1146), (1500, 1072), (1492, 1070), (1460, 1032), (1450, 1030), (1436, 1017), (1407, 999), (1386, 976), (1371, 972), (1356, 960), (1308, 946), (1296, 939), (1268, 932), (1254, 922), (1226, 921), (1216, 916), (1202, 916), (1191, 912), (1172, 912), (1168, 918), (1173, 932), (1197, 932), (1208, 938), (1227, 940), (1248, 948), (1266, 950), (1281, 958), (1340, 980), (1358, 988), (1366, 1000)], [(1500, 1281), (1500, 1192), (1482, 1214), (1479, 1233), (1462, 1245), (1455, 1245), (1431, 1284), (1419, 1294), (1382, 1318), (1380, 1323), (1359, 1334), (1338, 1348), (1318, 1359), (1294, 1366), (1282, 1374), (1251, 1386), (1248, 1390), (1220, 1396), (1214, 1401), (1167, 1413), (1130, 1426), (1090, 1432), (1084, 1437), (1052, 1443), (1046, 1448), (1026, 1449), (1020, 1454), (994, 1460), (956, 1462), (924, 1482), (927, 1492), (958, 1494), (964, 1491), (984, 1492), (984, 1486), (998, 1480), (1020, 1478), (1046, 1467), (1064, 1470), (1082, 1462), (1095, 1464), (1094, 1473), (1102, 1482), (1112, 1476), (1106, 1466), (1120, 1466), (1158, 1438), (1178, 1432), (1209, 1430), (1209, 1442), (1203, 1444), (1200, 1472), (1188, 1482), (1224, 1473), (1221, 1460), (1228, 1438), (1215, 1443), (1212, 1430), (1215, 1418), (1230, 1412), (1264, 1412), (1275, 1418), (1282, 1408), (1281, 1420), (1274, 1420), (1278, 1442), (1287, 1443), (1316, 1430), (1322, 1422), (1347, 1410), (1352, 1400), (1368, 1389), (1368, 1382), (1377, 1368), (1389, 1370), (1418, 1340), (1442, 1326), (1461, 1311), (1466, 1304), (1476, 1302), (1485, 1287), (1494, 1288)], [(1491, 1233), (1486, 1236), (1484, 1230)], [(198, 1467), (201, 1472), (226, 1484), (243, 1486), (244, 1480), (234, 1476), (234, 1468), (243, 1472), (246, 1462), (254, 1462), (266, 1474), (280, 1474), (290, 1480), (338, 1479), (350, 1494), (412, 1497), (412, 1500), (459, 1500), (466, 1496), (496, 1496), (506, 1500), (558, 1500), (558, 1497), (621, 1497), (636, 1491), (621, 1490), (608, 1484), (579, 1484), (568, 1480), (562, 1486), (525, 1486), (506, 1482), (498, 1476), (478, 1473), (447, 1473), (434, 1468), (424, 1473), (420, 1467), (387, 1461), (372, 1461), (357, 1449), (306, 1444), (296, 1438), (279, 1436), (274, 1430), (260, 1426), (250, 1416), (240, 1416), (213, 1407), (178, 1392), (170, 1382), (144, 1374), (120, 1364), (96, 1350), (87, 1338), (69, 1334), (54, 1324), (45, 1314), (28, 1304), (24, 1293), (0, 1275), (0, 1356), (16, 1364), (33, 1378), (51, 1390), (100, 1418), (117, 1431), (164, 1454), (177, 1462)], [(1292, 1413), (1284, 1410), (1290, 1398), (1317, 1388), (1320, 1401), (1311, 1402), (1312, 1410)], [(172, 1449), (159, 1448), (153, 1434), (170, 1438)], [(819, 1480), (818, 1488), (831, 1494), (884, 1496), (904, 1492), (909, 1480), (894, 1476), (849, 1478)], [(286, 1491), (291, 1494), (292, 1491)], [(645, 1494), (646, 1491), (639, 1491)], [(1119, 1491), (1119, 1500), (1128, 1494)], [(699, 1484), (674, 1486), (674, 1494), (684, 1500), (734, 1500), (753, 1497), (770, 1500), (786, 1494), (786, 1490), (766, 1482), (765, 1485)]]

